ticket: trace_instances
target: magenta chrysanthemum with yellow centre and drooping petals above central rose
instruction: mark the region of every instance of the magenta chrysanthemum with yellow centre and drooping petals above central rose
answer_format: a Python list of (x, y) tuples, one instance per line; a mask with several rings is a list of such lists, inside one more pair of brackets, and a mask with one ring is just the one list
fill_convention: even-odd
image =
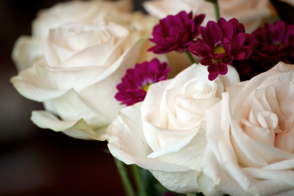
[(254, 36), (245, 33), (244, 25), (237, 19), (217, 23), (209, 21), (206, 27), (198, 27), (201, 38), (189, 47), (191, 53), (200, 56), (202, 65), (208, 66), (208, 79), (214, 80), (228, 72), (228, 64), (234, 59), (245, 60), (251, 55)]

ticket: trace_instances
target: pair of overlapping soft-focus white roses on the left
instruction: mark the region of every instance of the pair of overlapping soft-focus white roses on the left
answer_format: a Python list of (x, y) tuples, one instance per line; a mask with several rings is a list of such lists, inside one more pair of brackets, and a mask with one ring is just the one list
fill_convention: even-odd
[(116, 85), (136, 62), (158, 56), (146, 51), (153, 19), (128, 12), (127, 1), (57, 4), (35, 19), (33, 36), (19, 38), (12, 56), (22, 71), (11, 83), (44, 104), (45, 110), (32, 112), (37, 126), (108, 139), (105, 128), (123, 108), (114, 98)]

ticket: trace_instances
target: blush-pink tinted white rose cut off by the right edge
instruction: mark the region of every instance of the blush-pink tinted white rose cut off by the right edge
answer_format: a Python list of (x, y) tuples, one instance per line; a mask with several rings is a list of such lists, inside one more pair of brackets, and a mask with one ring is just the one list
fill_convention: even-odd
[(294, 65), (280, 62), (206, 111), (205, 195), (294, 195), (293, 82)]

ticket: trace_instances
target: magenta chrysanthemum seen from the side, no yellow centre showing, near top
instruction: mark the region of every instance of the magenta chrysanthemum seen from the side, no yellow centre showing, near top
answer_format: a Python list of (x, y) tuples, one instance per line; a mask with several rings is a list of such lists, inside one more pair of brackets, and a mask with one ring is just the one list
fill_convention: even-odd
[(198, 26), (202, 23), (204, 16), (200, 14), (193, 17), (192, 12), (187, 14), (181, 11), (175, 16), (169, 15), (161, 19), (153, 29), (153, 39), (150, 39), (156, 45), (149, 48), (148, 51), (157, 54), (173, 50), (186, 51), (199, 35)]

